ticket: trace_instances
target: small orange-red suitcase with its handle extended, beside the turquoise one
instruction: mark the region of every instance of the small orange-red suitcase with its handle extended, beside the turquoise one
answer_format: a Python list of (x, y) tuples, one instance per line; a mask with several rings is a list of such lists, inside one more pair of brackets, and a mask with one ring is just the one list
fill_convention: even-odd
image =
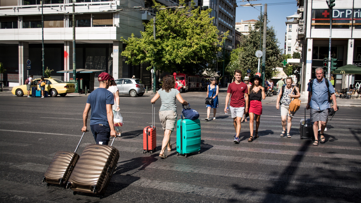
[(150, 154), (156, 151), (157, 147), (157, 131), (155, 127), (155, 108), (153, 111), (152, 104), (152, 125), (147, 126), (143, 130), (143, 154), (149, 151)]

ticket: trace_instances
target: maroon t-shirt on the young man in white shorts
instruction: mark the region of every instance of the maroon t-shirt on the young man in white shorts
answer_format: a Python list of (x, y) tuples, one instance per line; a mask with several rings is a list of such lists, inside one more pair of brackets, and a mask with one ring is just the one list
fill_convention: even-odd
[(244, 94), (248, 94), (248, 87), (244, 82), (239, 84), (232, 82), (228, 86), (227, 93), (231, 93), (231, 107), (245, 107)]

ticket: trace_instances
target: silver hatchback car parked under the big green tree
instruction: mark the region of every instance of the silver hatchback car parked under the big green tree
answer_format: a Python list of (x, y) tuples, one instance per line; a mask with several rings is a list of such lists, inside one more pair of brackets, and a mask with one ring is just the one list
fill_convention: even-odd
[(129, 94), (131, 97), (143, 96), (144, 85), (140, 79), (121, 78), (116, 79), (119, 94)]

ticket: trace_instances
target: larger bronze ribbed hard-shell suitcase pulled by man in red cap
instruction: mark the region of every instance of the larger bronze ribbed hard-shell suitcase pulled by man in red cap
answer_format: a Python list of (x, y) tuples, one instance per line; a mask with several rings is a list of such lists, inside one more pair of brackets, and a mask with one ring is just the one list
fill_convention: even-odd
[(88, 144), (79, 157), (66, 188), (73, 190), (74, 195), (78, 191), (104, 195), (119, 159), (119, 151), (112, 144)]

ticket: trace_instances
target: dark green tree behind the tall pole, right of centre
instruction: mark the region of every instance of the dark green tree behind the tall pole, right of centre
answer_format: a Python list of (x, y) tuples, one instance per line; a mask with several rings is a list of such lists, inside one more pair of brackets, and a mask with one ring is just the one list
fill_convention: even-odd
[[(258, 19), (261, 18), (263, 18), (263, 16), (258, 17)], [(231, 57), (232, 60), (227, 66), (227, 72), (233, 74), (233, 71), (235, 69), (240, 69), (242, 70), (242, 75), (245, 75), (247, 69), (250, 69), (251, 76), (257, 73), (258, 57), (256, 57), (255, 53), (258, 49), (260, 49), (260, 34), (262, 34), (263, 32), (260, 27), (261, 23), (260, 21), (257, 21), (255, 24), (255, 29), (252, 29), (248, 35), (244, 36), (243, 41), (240, 45), (240, 47), (242, 48), (238, 50), (238, 61), (234, 59), (234, 57)], [(267, 27), (266, 32), (265, 78), (269, 79), (277, 74), (276, 67), (281, 65), (280, 59), (282, 58), (282, 56), (280, 54), (281, 50), (278, 47), (279, 42), (276, 38), (276, 32), (273, 26)]]

